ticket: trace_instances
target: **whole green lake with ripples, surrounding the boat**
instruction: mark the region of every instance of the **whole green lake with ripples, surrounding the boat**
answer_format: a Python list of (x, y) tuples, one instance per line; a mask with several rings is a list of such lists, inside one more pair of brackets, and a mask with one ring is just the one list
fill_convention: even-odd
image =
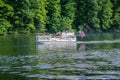
[(0, 36), (0, 80), (120, 79), (120, 33), (67, 44), (36, 44), (35, 36)]

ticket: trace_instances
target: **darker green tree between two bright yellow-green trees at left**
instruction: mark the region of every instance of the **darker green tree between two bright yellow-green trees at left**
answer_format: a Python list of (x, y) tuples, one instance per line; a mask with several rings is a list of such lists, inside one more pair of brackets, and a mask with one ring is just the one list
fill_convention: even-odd
[(10, 30), (28, 33), (35, 29), (32, 23), (34, 15), (30, 11), (31, 3), (29, 0), (7, 0), (7, 3), (14, 8), (14, 17), (10, 20), (13, 27)]

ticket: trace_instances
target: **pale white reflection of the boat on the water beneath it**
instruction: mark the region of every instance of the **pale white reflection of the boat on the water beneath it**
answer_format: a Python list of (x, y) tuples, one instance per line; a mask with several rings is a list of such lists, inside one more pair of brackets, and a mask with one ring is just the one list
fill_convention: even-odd
[(64, 52), (76, 51), (77, 44), (75, 42), (45, 42), (43, 44), (36, 44), (37, 52), (51, 53), (51, 52)]

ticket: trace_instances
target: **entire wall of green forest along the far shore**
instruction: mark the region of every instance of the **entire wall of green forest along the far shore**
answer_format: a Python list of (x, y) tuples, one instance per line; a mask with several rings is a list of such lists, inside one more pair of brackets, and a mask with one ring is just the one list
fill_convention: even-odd
[(120, 0), (0, 0), (0, 34), (120, 32)]

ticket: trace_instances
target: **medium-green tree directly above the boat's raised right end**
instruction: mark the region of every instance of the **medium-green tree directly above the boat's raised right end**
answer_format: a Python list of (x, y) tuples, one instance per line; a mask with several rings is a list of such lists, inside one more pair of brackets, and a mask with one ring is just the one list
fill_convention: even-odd
[[(61, 0), (61, 30), (72, 29), (75, 19), (75, 0)], [(74, 28), (74, 27), (73, 27)]]

